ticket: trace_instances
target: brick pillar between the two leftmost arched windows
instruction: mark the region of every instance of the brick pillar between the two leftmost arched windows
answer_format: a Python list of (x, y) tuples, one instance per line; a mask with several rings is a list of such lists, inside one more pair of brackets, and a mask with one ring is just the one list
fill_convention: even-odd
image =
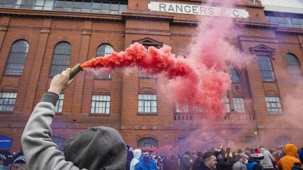
[(45, 48), (50, 33), (50, 24), (51, 24), (51, 19), (49, 18), (44, 19), (43, 26), (40, 30), (39, 42), (35, 53), (34, 64), (32, 67), (31, 77), (30, 77), (28, 89), (26, 92), (26, 98), (23, 106), (23, 113), (26, 114), (31, 114), (34, 106), (34, 97), (40, 76), (40, 74), (37, 73), (40, 73), (42, 69), (42, 62), (44, 58)]

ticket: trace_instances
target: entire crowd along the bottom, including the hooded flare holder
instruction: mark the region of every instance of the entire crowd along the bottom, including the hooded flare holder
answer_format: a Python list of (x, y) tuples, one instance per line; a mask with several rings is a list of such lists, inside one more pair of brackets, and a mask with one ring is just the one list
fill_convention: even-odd
[(220, 145), (205, 153), (159, 156), (130, 151), (117, 130), (104, 126), (67, 139), (63, 155), (51, 141), (51, 123), (59, 94), (74, 81), (69, 72), (70, 68), (53, 77), (34, 108), (21, 137), (22, 152), (0, 151), (0, 170), (303, 170), (303, 148), (293, 144), (286, 144), (285, 152), (263, 146), (232, 152)]

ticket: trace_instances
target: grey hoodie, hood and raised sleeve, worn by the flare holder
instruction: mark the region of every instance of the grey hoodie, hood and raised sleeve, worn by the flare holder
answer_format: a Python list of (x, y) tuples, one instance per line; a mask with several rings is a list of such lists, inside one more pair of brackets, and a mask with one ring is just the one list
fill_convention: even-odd
[(64, 143), (63, 158), (51, 141), (50, 125), (58, 100), (44, 93), (25, 126), (22, 149), (29, 170), (125, 170), (126, 146), (117, 130), (92, 127)]

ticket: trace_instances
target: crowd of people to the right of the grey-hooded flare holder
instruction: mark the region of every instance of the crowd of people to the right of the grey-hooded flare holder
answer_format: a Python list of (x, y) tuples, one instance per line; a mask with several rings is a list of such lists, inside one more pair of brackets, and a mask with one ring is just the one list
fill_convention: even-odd
[(294, 144), (269, 150), (264, 146), (245, 148), (244, 152), (225, 151), (220, 145), (205, 153), (187, 151), (178, 156), (159, 156), (140, 149), (133, 154), (129, 170), (303, 170), (303, 148)]

